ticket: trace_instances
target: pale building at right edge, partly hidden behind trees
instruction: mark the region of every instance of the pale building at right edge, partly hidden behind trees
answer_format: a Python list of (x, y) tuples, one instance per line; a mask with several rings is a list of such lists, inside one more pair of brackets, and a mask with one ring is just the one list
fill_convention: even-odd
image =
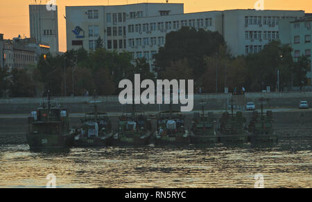
[[(281, 21), (279, 31), (281, 33), (281, 43), (290, 44), (293, 48), (293, 57), (296, 59), (300, 55), (306, 55), (311, 59), (311, 24), (312, 17), (304, 17), (297, 20)], [(312, 63), (307, 75), (307, 84), (311, 85), (312, 78)]]

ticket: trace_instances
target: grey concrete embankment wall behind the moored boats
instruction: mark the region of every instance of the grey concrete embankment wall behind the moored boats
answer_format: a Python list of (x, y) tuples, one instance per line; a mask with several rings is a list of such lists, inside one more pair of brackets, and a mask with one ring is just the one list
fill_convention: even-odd
[[(193, 98), (194, 110), (200, 110), (200, 102), (206, 101), (205, 109), (229, 109), (229, 103), (232, 96), (224, 93), (212, 94), (196, 94)], [(298, 107), (301, 100), (306, 100), (312, 104), (312, 92), (287, 92), (287, 93), (245, 93), (245, 95), (233, 96), (234, 109), (243, 109), (246, 102), (254, 102), (259, 109), (261, 102), (260, 98), (264, 98), (263, 104), (266, 108), (288, 108)], [(92, 104), (89, 104), (94, 98), (92, 97), (62, 97), (53, 98), (58, 104), (62, 104), (71, 113), (84, 113), (92, 109)], [(131, 106), (119, 104), (117, 96), (99, 96), (96, 100), (101, 101), (99, 104), (102, 111), (130, 111)], [(20, 114), (30, 113), (44, 102), (43, 98), (1, 98), (0, 99), (0, 114)], [(45, 101), (46, 102), (46, 101)], [(166, 104), (137, 104), (139, 111), (166, 111)], [(180, 106), (175, 105), (174, 110), (180, 111)]]

